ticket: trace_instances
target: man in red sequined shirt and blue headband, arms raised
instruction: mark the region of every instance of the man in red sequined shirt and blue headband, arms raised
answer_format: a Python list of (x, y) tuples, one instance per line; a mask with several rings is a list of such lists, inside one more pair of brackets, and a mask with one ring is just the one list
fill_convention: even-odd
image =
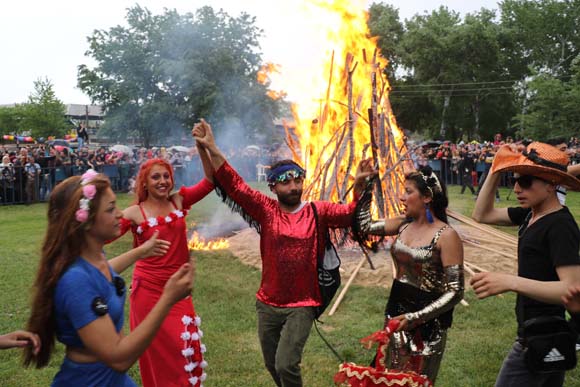
[(202, 120), (193, 135), (214, 167), (220, 196), (260, 233), (262, 281), (256, 294), (258, 335), (266, 368), (277, 386), (302, 386), (300, 361), (321, 303), (317, 252), (322, 251), (328, 228), (349, 227), (356, 198), (372, 175), (369, 160), (358, 167), (355, 200), (350, 204), (302, 201), (306, 171), (291, 160), (271, 167), (270, 190), (277, 200), (249, 187), (216, 146), (209, 124)]

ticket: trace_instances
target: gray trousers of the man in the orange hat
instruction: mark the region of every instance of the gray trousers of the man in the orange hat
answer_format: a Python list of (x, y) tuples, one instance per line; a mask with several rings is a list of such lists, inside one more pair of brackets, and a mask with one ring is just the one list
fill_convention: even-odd
[(524, 347), (516, 341), (503, 361), (495, 387), (562, 387), (565, 375), (565, 372), (531, 373), (524, 362)]

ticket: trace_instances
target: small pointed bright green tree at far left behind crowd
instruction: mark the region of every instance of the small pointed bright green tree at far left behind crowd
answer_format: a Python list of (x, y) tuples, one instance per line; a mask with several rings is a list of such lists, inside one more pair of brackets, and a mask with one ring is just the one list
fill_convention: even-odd
[(34, 92), (28, 97), (28, 102), (21, 105), (21, 109), (20, 127), (29, 130), (33, 137), (62, 137), (71, 126), (64, 118), (65, 105), (56, 98), (48, 78), (34, 82)]

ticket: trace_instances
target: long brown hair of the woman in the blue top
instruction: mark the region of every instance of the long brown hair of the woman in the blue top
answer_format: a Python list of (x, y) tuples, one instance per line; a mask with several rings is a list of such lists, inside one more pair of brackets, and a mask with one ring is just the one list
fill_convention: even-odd
[(76, 220), (79, 201), (83, 198), (81, 177), (73, 176), (58, 184), (48, 201), (48, 225), (38, 273), (33, 287), (32, 311), (27, 329), (40, 336), (40, 352), (24, 350), (24, 365), (36, 368), (48, 364), (54, 349), (56, 322), (54, 318), (54, 291), (64, 271), (77, 259), (86, 244), (85, 232), (93, 224), (103, 192), (111, 186), (102, 174), (90, 180), (97, 192), (89, 204), (85, 222)]

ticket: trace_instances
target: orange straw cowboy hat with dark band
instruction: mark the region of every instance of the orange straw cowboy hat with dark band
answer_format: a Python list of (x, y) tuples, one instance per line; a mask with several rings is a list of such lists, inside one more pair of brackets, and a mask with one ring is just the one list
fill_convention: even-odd
[(522, 153), (504, 146), (495, 154), (490, 173), (510, 171), (532, 175), (580, 191), (580, 180), (567, 172), (569, 161), (566, 153), (543, 142), (531, 143)]

